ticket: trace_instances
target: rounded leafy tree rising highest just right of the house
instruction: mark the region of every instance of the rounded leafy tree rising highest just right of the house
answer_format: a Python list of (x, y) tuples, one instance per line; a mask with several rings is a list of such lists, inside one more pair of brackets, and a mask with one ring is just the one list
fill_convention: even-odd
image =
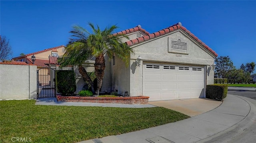
[(215, 59), (215, 63), (216, 73), (218, 76), (222, 76), (222, 78), (227, 78), (228, 72), (235, 68), (229, 56), (220, 56)]

